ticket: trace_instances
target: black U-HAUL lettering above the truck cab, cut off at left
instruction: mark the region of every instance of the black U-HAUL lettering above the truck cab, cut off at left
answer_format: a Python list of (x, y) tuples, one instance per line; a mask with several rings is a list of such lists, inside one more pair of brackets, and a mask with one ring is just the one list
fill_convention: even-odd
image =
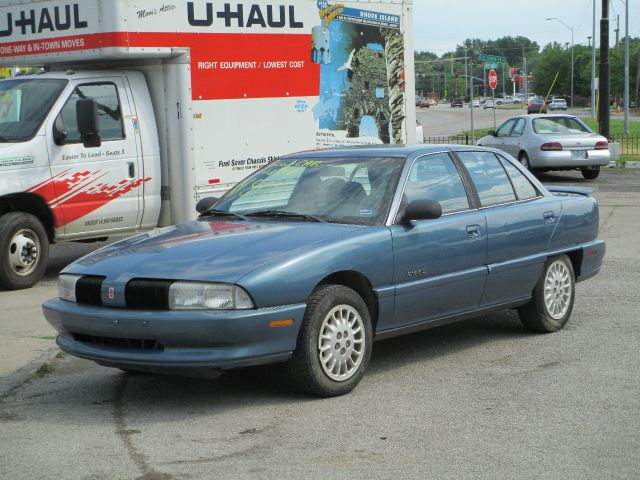
[(8, 12), (6, 17), (0, 18), (0, 37), (10, 37), (14, 32), (19, 35), (34, 35), (72, 28), (80, 30), (88, 25), (88, 22), (82, 20), (78, 3), (53, 8), (32, 8), (17, 13)]

